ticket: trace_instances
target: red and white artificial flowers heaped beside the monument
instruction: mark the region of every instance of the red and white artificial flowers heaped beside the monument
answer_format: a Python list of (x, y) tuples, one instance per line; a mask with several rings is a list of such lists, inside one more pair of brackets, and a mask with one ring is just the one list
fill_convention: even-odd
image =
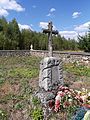
[(68, 108), (69, 106), (85, 106), (90, 108), (90, 92), (82, 88), (82, 91), (60, 86), (55, 98), (55, 111)]

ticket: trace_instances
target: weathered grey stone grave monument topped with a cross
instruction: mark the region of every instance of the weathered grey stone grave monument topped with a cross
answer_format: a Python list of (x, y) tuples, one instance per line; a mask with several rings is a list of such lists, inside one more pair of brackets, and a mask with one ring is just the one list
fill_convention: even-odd
[(48, 29), (43, 33), (48, 34), (48, 57), (40, 62), (39, 74), (39, 93), (38, 97), (44, 106), (47, 106), (50, 100), (54, 100), (58, 87), (63, 85), (62, 60), (53, 57), (52, 34), (57, 35), (58, 31), (52, 29), (52, 22), (48, 23)]

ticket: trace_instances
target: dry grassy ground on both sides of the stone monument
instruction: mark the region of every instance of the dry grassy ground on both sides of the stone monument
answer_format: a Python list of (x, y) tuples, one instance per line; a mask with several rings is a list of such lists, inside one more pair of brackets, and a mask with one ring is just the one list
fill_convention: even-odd
[[(0, 57), (0, 120), (42, 120), (40, 101), (32, 96), (38, 89), (40, 60), (31, 56)], [(64, 64), (64, 81), (72, 88), (90, 89), (90, 68)], [(60, 120), (60, 114), (52, 120)]]

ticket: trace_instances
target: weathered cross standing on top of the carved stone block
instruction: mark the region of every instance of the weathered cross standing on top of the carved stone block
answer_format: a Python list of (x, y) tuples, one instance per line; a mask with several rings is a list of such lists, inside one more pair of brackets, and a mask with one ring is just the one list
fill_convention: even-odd
[(52, 48), (52, 34), (57, 35), (58, 31), (52, 29), (52, 22), (48, 23), (48, 29), (43, 29), (43, 33), (48, 33), (48, 50), (49, 50), (49, 57), (53, 56), (53, 48)]

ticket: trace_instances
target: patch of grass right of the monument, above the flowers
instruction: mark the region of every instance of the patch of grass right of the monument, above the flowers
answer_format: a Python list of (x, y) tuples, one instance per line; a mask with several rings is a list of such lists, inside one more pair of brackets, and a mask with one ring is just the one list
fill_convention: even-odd
[(77, 63), (64, 64), (64, 81), (73, 89), (90, 90), (90, 67)]

